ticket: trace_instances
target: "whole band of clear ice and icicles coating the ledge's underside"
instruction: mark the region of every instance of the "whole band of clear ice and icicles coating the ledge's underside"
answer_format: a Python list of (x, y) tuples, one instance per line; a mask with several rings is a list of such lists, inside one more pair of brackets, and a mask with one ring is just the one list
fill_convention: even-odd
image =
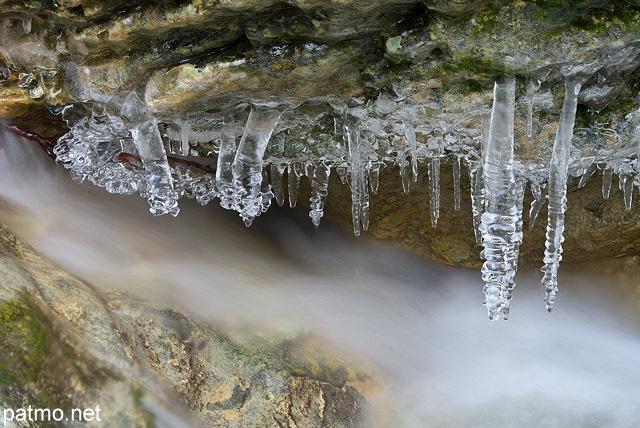
[[(527, 207), (530, 229), (548, 201), (542, 284), (551, 310), (558, 292), (567, 180), (580, 177), (578, 187), (583, 187), (602, 174), (602, 196), (608, 199), (617, 176), (626, 209), (631, 209), (634, 187), (640, 185), (636, 140), (617, 157), (603, 143), (595, 145), (604, 147), (600, 152), (571, 156), (576, 139), (621, 138), (604, 125), (578, 129), (574, 135), (581, 84), (590, 77), (584, 69), (565, 73), (565, 99), (556, 118), (550, 160), (541, 159), (546, 166), (534, 167), (518, 159), (520, 137), (514, 133), (514, 120), (523, 121), (528, 138), (539, 132), (533, 121), (536, 103), (552, 98), (551, 89), (541, 87), (547, 69), (520, 82), (524, 88), (520, 95), (516, 78), (500, 78), (490, 120), (480, 129), (449, 121), (447, 112), (433, 113), (404, 100), (390, 87), (346, 105), (247, 102), (204, 116), (160, 117), (147, 105), (144, 88), (100, 93), (79, 83), (74, 70), (70, 67), (67, 73), (67, 92), (85, 107), (60, 108), (70, 131), (55, 146), (57, 162), (76, 181), (91, 181), (111, 193), (139, 193), (154, 215), (177, 215), (183, 196), (201, 204), (217, 198), (223, 208), (237, 211), (250, 225), (273, 198), (280, 206), (288, 200), (295, 207), (301, 180), (307, 180), (309, 216), (317, 227), (335, 171), (351, 190), (353, 231), (359, 235), (369, 227), (369, 210), (375, 209), (369, 195), (377, 193), (381, 171), (397, 168), (404, 192), (410, 193), (418, 182), (428, 186), (428, 213), (436, 227), (441, 221), (441, 168), (453, 171), (455, 210), (461, 207), (462, 185), (467, 181), (463, 173), (468, 174), (474, 233), (485, 260), (484, 305), (491, 319), (509, 316), (525, 194), (532, 196)], [(47, 91), (40, 87), (41, 80), (25, 77), (32, 95)], [(627, 119), (629, 129), (640, 129), (640, 112)]]

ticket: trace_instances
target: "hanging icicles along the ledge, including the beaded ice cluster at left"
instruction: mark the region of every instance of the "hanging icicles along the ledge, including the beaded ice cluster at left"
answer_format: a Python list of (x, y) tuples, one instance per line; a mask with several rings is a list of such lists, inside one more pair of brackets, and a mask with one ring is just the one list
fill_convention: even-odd
[[(428, 138), (426, 144), (424, 141), (418, 143), (414, 125), (404, 118), (398, 122), (405, 140), (403, 144), (396, 145), (392, 159), (400, 167), (405, 192), (409, 191), (410, 181), (417, 181), (419, 162), (428, 164), (430, 214), (434, 227), (440, 210), (440, 164), (445, 161), (453, 163), (454, 203), (455, 209), (459, 210), (460, 167), (461, 160), (465, 161), (470, 174), (476, 240), (484, 247), (481, 253), (485, 260), (482, 267), (484, 305), (492, 320), (507, 319), (509, 315), (522, 242), (527, 180), (514, 171), (515, 84), (515, 78), (509, 76), (495, 84), (490, 126), (482, 142), (481, 156), (473, 150), (445, 153), (445, 148), (456, 144), (455, 137), (442, 130)], [(549, 311), (558, 291), (569, 151), (580, 85), (580, 79), (567, 78), (548, 177), (529, 183), (534, 196), (530, 209), (531, 227), (544, 201), (549, 201), (542, 280)], [(71, 131), (59, 140), (55, 154), (57, 162), (71, 170), (74, 180), (82, 182), (88, 179), (111, 193), (140, 193), (148, 200), (154, 215), (177, 215), (177, 201), (182, 196), (194, 198), (203, 205), (218, 198), (222, 207), (237, 211), (247, 226), (269, 208), (274, 197), (280, 206), (283, 205), (285, 173), (292, 207), (296, 205), (300, 178), (303, 175), (308, 177), (311, 184), (309, 215), (313, 224), (319, 225), (328, 194), (329, 176), (335, 169), (342, 182), (351, 188), (354, 232), (359, 235), (362, 229), (368, 228), (369, 191), (377, 191), (380, 168), (385, 165), (372, 156), (370, 144), (363, 137), (366, 111), (361, 107), (345, 108), (336, 118), (336, 124), (340, 125), (344, 135), (341, 143), (344, 144), (344, 157), (309, 159), (306, 162), (291, 159), (266, 162), (265, 150), (282, 114), (283, 109), (278, 106), (253, 105), (242, 136), (237, 141), (234, 115), (228, 113), (222, 119), (216, 141), (217, 165), (170, 162), (167, 148), (170, 154), (193, 154), (189, 140), (194, 134), (185, 126), (177, 136), (173, 135), (171, 141), (171, 135), (167, 136), (169, 132), (160, 132), (144, 95), (132, 91), (125, 98), (119, 115), (94, 108), (90, 117), (75, 123)], [(180, 141), (175, 141), (176, 137)], [(459, 146), (470, 147), (473, 144), (466, 141)], [(584, 171), (580, 185), (583, 186), (598, 167), (604, 167), (603, 196), (608, 198), (611, 177), (617, 173), (625, 204), (630, 209), (633, 177), (635, 185), (640, 184), (637, 182), (636, 163), (637, 159), (615, 166), (594, 163)], [(270, 166), (270, 174), (263, 167), (266, 164)]]

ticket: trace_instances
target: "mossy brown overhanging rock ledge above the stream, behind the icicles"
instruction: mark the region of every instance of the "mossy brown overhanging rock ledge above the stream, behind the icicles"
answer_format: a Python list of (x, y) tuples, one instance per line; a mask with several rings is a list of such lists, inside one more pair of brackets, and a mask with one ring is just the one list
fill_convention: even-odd
[[(122, 162), (137, 150), (122, 122), (132, 91), (142, 94), (170, 164), (210, 167), (225, 124), (224, 135), (240, 140), (251, 133), (244, 125), (253, 107), (276, 109), (269, 143), (256, 154), (265, 167), (260, 190), (254, 174), (251, 197), (247, 186), (231, 189), (228, 208), (252, 219), (274, 193), (279, 203), (307, 200), (307, 180), (297, 198), (306, 175), (314, 224), (325, 210), (341, 221), (353, 216), (357, 233), (369, 227), (364, 233), (465, 265), (481, 262), (474, 229), (481, 238), (494, 82), (516, 79), (513, 168), (525, 181), (525, 226), (532, 200), (540, 215), (525, 230), (520, 259), (541, 265), (564, 82), (579, 77), (568, 172), (582, 183), (569, 181), (564, 259), (640, 248), (632, 203), (640, 183), (636, 1), (2, 1), (0, 11), (0, 114), (51, 137), (71, 128), (59, 153), (75, 179), (152, 200), (158, 177), (132, 157)], [(103, 163), (87, 164), (87, 154)], [(461, 160), (458, 212), (448, 168)], [(201, 203), (219, 196), (211, 174), (173, 167), (178, 196)], [(605, 187), (613, 176), (614, 187), (596, 200), (601, 176)]]

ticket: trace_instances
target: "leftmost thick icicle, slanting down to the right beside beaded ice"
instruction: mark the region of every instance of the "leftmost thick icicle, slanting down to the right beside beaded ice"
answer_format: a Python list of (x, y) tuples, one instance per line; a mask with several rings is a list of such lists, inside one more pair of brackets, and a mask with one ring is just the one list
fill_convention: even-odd
[(177, 216), (178, 195), (173, 188), (171, 169), (164, 143), (144, 96), (131, 91), (121, 108), (121, 115), (129, 127), (146, 172), (146, 197), (153, 215)]

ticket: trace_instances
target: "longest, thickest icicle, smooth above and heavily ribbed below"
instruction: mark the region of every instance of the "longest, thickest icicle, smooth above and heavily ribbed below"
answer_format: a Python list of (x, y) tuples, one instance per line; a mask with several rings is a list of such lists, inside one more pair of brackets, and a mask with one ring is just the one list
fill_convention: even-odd
[(516, 81), (503, 77), (494, 87), (493, 109), (483, 168), (485, 209), (482, 214), (482, 279), (484, 306), (491, 320), (506, 319), (511, 305), (522, 227), (518, 233), (518, 202), (513, 173)]

